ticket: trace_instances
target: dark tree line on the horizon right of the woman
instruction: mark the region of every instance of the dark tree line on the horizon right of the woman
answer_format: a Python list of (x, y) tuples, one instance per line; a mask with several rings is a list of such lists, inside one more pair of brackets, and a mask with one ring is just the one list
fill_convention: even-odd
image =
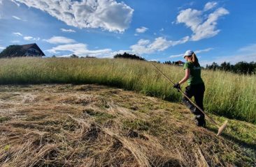
[(237, 74), (256, 74), (256, 63), (253, 61), (250, 63), (247, 63), (245, 61), (240, 61), (235, 65), (232, 65), (227, 62), (223, 62), (220, 65), (218, 65), (218, 63), (213, 62), (211, 65), (206, 65), (206, 69), (222, 70), (222, 71), (234, 72)]

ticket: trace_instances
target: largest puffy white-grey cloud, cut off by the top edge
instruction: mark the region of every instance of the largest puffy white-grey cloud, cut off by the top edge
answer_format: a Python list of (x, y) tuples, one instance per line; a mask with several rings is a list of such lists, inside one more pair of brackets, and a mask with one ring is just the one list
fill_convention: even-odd
[(38, 8), (65, 22), (69, 26), (101, 28), (124, 32), (129, 27), (134, 10), (124, 2), (115, 0), (15, 0)]

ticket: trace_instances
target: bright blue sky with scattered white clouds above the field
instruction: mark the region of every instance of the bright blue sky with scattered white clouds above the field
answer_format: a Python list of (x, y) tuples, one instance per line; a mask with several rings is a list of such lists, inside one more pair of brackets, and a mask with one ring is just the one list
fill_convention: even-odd
[(256, 61), (256, 1), (0, 0), (0, 51), (36, 43), (46, 57), (113, 58), (201, 65)]

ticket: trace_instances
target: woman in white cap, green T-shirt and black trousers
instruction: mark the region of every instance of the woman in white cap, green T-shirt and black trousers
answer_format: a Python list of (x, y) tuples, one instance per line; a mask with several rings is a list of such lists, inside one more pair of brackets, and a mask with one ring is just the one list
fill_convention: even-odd
[[(187, 87), (185, 88), (185, 95), (187, 97), (193, 97), (196, 104), (204, 111), (204, 81), (201, 79), (201, 67), (199, 65), (196, 54), (192, 50), (187, 50), (183, 56), (187, 61), (184, 64), (185, 77), (181, 79), (174, 88), (180, 88), (180, 85), (187, 81)], [(187, 97), (183, 97), (183, 103), (190, 109), (195, 115), (197, 126), (206, 127), (206, 121), (204, 120), (204, 113), (202, 113), (197, 107), (195, 107)]]

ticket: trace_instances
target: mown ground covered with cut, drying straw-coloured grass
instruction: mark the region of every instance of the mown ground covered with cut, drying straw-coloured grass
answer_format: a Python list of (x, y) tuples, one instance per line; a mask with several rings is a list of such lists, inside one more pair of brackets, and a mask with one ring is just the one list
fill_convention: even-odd
[(45, 84), (2, 85), (0, 100), (0, 166), (256, 166), (255, 125), (229, 120), (216, 137), (155, 97)]

